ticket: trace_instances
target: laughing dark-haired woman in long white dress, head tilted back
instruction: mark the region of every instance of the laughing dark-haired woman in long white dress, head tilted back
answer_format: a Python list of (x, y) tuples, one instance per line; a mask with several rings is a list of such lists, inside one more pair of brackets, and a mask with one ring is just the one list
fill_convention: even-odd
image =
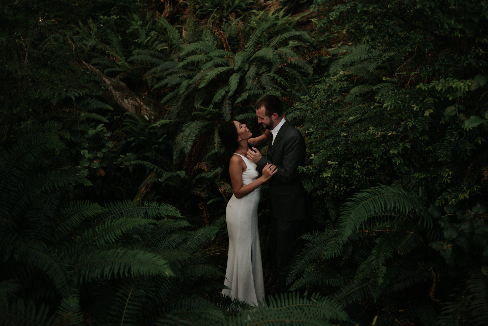
[(219, 128), (224, 144), (223, 175), (234, 195), (227, 203), (225, 219), (229, 234), (229, 254), (222, 294), (258, 306), (264, 299), (263, 268), (258, 233), (258, 204), (261, 185), (278, 170), (266, 164), (260, 176), (256, 164), (245, 157), (248, 144), (258, 147), (268, 140), (269, 130), (251, 138), (252, 133), (237, 121), (226, 121)]

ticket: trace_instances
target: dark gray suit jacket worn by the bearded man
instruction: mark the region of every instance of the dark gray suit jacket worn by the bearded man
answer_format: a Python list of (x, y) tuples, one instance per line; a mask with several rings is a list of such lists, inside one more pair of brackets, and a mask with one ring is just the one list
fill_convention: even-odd
[(269, 180), (271, 213), (278, 220), (305, 219), (306, 192), (297, 169), (305, 164), (305, 140), (288, 121), (281, 126), (274, 143), (268, 142), (268, 158), (262, 157), (256, 170), (262, 172), (266, 163), (278, 167), (278, 172)]

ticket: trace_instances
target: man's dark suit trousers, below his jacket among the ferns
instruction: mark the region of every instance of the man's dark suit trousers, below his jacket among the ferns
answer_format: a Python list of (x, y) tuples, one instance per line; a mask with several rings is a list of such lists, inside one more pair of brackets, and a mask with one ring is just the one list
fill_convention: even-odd
[(271, 217), (266, 240), (266, 257), (278, 274), (278, 293), (286, 290), (285, 281), (296, 255), (302, 248), (306, 220), (283, 221)]

